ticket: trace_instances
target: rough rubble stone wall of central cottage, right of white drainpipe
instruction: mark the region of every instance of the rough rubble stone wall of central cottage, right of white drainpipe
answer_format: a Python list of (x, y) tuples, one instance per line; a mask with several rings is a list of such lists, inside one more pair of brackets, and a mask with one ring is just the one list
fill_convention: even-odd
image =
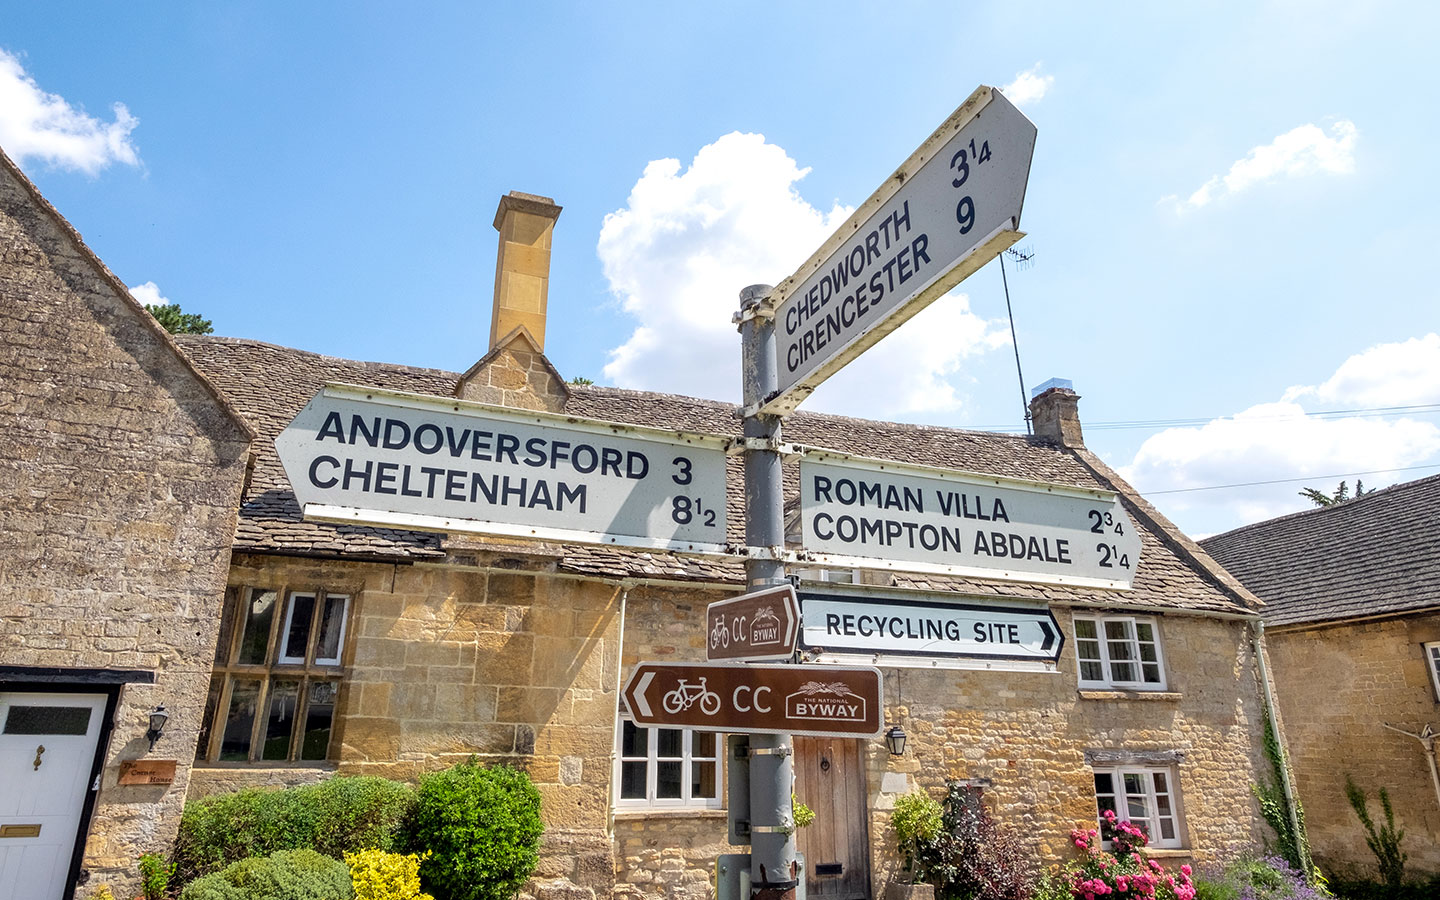
[[(713, 595), (631, 593), (625, 667), (639, 660), (704, 657), (696, 626)], [(1056, 608), (1066, 635), (1070, 613)], [(900, 793), (943, 796), (946, 779), (988, 786), (996, 821), (1043, 863), (1068, 858), (1070, 829), (1096, 821), (1087, 752), (1172, 755), (1185, 847), (1162, 851), (1175, 865), (1259, 850), (1266, 825), (1250, 785), (1266, 772), (1261, 701), (1250, 629), (1241, 622), (1161, 616), (1168, 691), (1079, 691), (1073, 639), (1057, 672), (887, 668), (886, 721), (909, 734), (901, 757), (864, 743), (871, 890), (884, 896), (900, 858), (890, 811)], [(615, 824), (619, 881), (647, 897), (701, 896), (726, 842), (726, 821), (698, 814), (624, 812)]]

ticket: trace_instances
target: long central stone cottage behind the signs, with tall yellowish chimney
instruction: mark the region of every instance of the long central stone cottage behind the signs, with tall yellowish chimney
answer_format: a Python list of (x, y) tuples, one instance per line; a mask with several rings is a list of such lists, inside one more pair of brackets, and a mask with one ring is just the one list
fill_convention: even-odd
[[(724, 742), (638, 727), (619, 688), (641, 660), (703, 660), (707, 603), (743, 590), (734, 556), (680, 554), (305, 520), (275, 436), (327, 383), (478, 400), (671, 431), (739, 433), (736, 408), (567, 383), (544, 356), (544, 197), (500, 203), (491, 341), (464, 373), (186, 337), (184, 351), (256, 431), (225, 615), (194, 737), (192, 791), (340, 773), (415, 778), (471, 755), (524, 766), (544, 798), (536, 896), (706, 897), (726, 838)], [(739, 341), (737, 341), (739, 343)], [(1129, 589), (802, 566), (802, 599), (1024, 605), (1063, 632), (1058, 661), (923, 664), (874, 654), (881, 740), (796, 739), (812, 897), (878, 897), (899, 858), (897, 795), (982, 789), (1047, 861), (1100, 809), (1142, 822), (1179, 861), (1261, 840), (1259, 603), (1086, 449), (1073, 390), (1035, 397), (1034, 436), (795, 413), (785, 439), (881, 459), (1119, 495), (1140, 533)], [(730, 534), (742, 543), (739, 461)], [(789, 491), (798, 488), (793, 467)], [(858, 599), (857, 599), (858, 598)], [(806, 600), (814, 602), (814, 600)]]

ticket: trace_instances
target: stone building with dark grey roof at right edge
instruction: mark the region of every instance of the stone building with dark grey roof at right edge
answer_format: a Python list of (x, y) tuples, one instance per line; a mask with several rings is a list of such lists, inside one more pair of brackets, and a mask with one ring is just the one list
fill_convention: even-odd
[(1204, 541), (1266, 602), (1266, 641), (1316, 861), (1375, 876), (1345, 778), (1381, 788), (1413, 873), (1440, 873), (1440, 475)]

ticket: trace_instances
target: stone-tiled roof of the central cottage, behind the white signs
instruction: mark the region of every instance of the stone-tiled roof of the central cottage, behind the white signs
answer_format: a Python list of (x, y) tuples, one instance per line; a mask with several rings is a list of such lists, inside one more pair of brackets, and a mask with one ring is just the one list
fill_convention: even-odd
[[(304, 521), (275, 455), (274, 441), (325, 382), (373, 384), (448, 397), (459, 377), (456, 373), (360, 363), (226, 337), (183, 336), (180, 343), (259, 433), (255, 444), (256, 465), (240, 508), (236, 552), (396, 562), (445, 557), (445, 547), (454, 544), (448, 544), (442, 534)], [(567, 389), (567, 415), (739, 435), (740, 420), (730, 403), (618, 387), (569, 384)], [(1132, 590), (896, 575), (893, 583), (899, 588), (1156, 609), (1253, 612), (1259, 606), (1243, 586), (1084, 449), (1063, 449), (1024, 435), (896, 425), (805, 412), (786, 418), (785, 439), (863, 456), (1115, 490), (1122, 494), (1130, 517), (1140, 527), (1142, 553)], [(743, 518), (737, 458), (730, 459), (729, 480), (729, 539), (740, 546)], [(786, 492), (793, 494), (796, 488), (798, 467), (788, 465)], [(465, 540), (468, 539), (461, 539), (461, 543)], [(559, 570), (575, 575), (743, 583), (739, 557), (681, 556), (580, 544), (550, 546), (549, 550), (556, 556)]]

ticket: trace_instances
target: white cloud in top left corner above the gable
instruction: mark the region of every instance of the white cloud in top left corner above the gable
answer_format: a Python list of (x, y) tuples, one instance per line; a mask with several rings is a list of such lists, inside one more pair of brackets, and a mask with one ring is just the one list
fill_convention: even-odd
[(138, 166), (140, 151), (130, 132), (140, 120), (125, 104), (112, 109), (112, 122), (86, 115), (63, 96), (45, 92), (19, 58), (0, 50), (0, 147), (17, 164), (36, 160), (91, 176), (112, 163)]

